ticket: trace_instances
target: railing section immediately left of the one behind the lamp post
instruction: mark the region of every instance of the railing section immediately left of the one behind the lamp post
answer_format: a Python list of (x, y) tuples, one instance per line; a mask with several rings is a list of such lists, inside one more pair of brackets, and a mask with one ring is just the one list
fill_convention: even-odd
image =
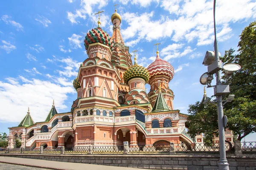
[(169, 144), (138, 144), (130, 145), (129, 153), (169, 153), (170, 145)]

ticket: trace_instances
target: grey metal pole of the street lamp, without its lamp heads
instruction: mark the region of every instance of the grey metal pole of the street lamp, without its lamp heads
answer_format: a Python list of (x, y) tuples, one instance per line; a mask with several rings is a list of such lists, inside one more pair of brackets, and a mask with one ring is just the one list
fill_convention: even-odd
[[(219, 60), (218, 56), (218, 41), (216, 36), (216, 24), (215, 24), (215, 6), (216, 0), (214, 0), (213, 4), (213, 19), (214, 19), (214, 52), (215, 52), (215, 61)], [(216, 85), (221, 85), (221, 75), (220, 71), (216, 72)], [(222, 95), (215, 95), (217, 97), (217, 105), (218, 105), (218, 132), (219, 132), (219, 146), (220, 146), (220, 159), (219, 159), (219, 170), (229, 170), (229, 164), (227, 163), (226, 158), (226, 148), (225, 148), (225, 132), (224, 132), (224, 113), (222, 106)]]

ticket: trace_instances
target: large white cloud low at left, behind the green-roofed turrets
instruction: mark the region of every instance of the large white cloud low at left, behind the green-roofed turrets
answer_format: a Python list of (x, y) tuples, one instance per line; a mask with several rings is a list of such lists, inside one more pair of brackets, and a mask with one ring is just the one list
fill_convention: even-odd
[(5, 106), (1, 108), (1, 112), (9, 113), (9, 108), (12, 108), (12, 114), (2, 114), (1, 122), (20, 122), (26, 116), (28, 106), (35, 122), (44, 121), (51, 108), (52, 99), (55, 100), (57, 110), (65, 109), (67, 94), (76, 92), (72, 86), (40, 79), (28, 80), (19, 76), (9, 77), (7, 80), (8, 82), (0, 81), (0, 102)]

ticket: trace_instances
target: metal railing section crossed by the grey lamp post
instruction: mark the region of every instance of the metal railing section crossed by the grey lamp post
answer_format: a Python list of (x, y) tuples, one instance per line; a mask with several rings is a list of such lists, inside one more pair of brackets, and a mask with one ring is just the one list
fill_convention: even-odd
[[(204, 144), (204, 143), (177, 143), (175, 144), (175, 151), (181, 153), (191, 152), (219, 152), (219, 143)], [(229, 150), (229, 144), (225, 144), (225, 150)]]

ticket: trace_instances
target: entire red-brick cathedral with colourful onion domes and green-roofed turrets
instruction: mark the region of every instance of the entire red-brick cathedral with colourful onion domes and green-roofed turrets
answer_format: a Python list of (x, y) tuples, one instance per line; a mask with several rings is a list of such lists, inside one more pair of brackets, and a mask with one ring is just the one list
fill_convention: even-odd
[[(100, 13), (100, 12), (99, 12)], [(148, 68), (134, 63), (120, 31), (121, 16), (111, 16), (112, 37), (98, 27), (87, 33), (84, 46), (88, 58), (73, 81), (77, 99), (68, 113), (58, 113), (53, 102), (44, 122), (34, 122), (28, 111), (17, 127), (9, 128), (9, 148), (61, 146), (131, 146), (138, 144), (193, 143), (186, 133), (188, 115), (174, 110), (169, 82), (174, 68), (160, 58)], [(150, 85), (147, 94), (145, 84)], [(233, 142), (232, 132), (226, 139)], [(197, 136), (195, 142), (203, 142)], [(218, 142), (217, 139), (215, 142)]]

